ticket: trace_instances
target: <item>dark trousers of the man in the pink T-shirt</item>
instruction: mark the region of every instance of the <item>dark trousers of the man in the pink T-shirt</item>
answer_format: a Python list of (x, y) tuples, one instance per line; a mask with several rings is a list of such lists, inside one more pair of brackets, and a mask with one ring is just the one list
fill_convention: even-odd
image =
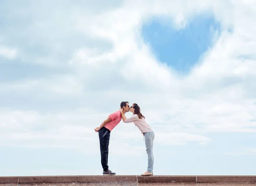
[(100, 146), (100, 154), (101, 154), (101, 163), (103, 171), (108, 170), (108, 145), (110, 139), (110, 131), (102, 127), (99, 130), (99, 146)]

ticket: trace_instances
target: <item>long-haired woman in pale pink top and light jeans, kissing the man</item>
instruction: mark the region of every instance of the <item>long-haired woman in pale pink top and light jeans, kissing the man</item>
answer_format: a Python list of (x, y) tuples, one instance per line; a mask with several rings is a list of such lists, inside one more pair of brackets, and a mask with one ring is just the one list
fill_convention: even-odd
[(129, 110), (130, 112), (133, 113), (133, 116), (130, 118), (125, 117), (125, 114), (123, 113), (123, 109), (124, 108), (120, 108), (120, 113), (124, 123), (133, 122), (140, 129), (140, 132), (145, 137), (146, 151), (148, 154), (148, 170), (147, 172), (141, 175), (151, 176), (153, 175), (153, 164), (154, 164), (154, 156), (153, 156), (154, 132), (146, 122), (145, 117), (140, 113), (140, 107), (136, 103), (132, 104)]

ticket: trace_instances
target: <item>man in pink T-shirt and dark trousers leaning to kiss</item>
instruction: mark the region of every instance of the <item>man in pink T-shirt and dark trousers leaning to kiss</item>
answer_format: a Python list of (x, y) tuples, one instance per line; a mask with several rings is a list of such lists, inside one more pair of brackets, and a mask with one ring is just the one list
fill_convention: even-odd
[[(124, 108), (124, 114), (126, 112), (129, 112), (130, 106), (128, 101), (122, 101), (122, 103), (120, 103), (120, 107)], [(99, 145), (103, 175), (116, 175), (116, 173), (108, 169), (108, 145), (110, 139), (110, 132), (120, 123), (121, 120), (122, 116), (120, 114), (120, 111), (118, 110), (110, 114), (108, 118), (104, 120), (99, 127), (96, 127), (94, 129), (95, 132), (99, 132)]]

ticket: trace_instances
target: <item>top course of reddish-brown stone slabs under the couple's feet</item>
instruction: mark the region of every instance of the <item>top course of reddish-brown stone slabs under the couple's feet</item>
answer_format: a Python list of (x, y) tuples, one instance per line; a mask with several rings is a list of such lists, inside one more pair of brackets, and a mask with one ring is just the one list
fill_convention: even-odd
[(20, 176), (0, 177), (0, 183), (97, 183), (97, 182), (118, 182), (118, 183), (256, 183), (256, 176)]

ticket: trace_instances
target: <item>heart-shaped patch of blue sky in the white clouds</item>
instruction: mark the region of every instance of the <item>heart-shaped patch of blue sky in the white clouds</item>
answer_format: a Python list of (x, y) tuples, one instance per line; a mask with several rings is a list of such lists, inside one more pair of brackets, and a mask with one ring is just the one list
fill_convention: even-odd
[(143, 25), (142, 37), (158, 60), (186, 74), (214, 44), (213, 38), (220, 30), (220, 23), (209, 15), (194, 17), (180, 30), (163, 24), (160, 19), (152, 19)]

